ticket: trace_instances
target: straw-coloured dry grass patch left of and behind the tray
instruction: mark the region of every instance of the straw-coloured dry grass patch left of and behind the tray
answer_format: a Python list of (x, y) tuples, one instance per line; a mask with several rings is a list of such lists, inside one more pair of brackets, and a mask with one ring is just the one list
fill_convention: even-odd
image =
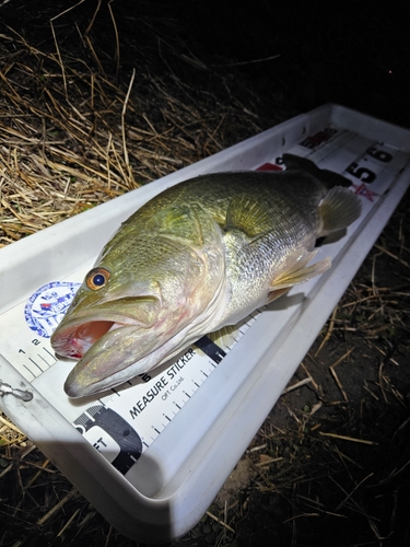
[(122, 89), (80, 58), (1, 38), (0, 246), (261, 129), (229, 89), (221, 102), (148, 71)]

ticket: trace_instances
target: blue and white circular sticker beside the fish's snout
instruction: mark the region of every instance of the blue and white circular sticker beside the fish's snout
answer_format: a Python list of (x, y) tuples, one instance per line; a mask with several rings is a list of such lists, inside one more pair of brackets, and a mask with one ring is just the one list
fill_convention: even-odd
[(27, 301), (24, 316), (37, 335), (49, 338), (65, 316), (81, 283), (52, 281), (40, 287)]

